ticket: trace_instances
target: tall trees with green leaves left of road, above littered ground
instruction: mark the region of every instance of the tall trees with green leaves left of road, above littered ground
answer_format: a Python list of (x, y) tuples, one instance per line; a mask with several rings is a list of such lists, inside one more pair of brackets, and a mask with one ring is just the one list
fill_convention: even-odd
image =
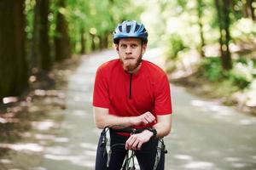
[(0, 99), (20, 96), (73, 54), (112, 46), (116, 24), (139, 16), (141, 9), (131, 6), (129, 0), (3, 0)]

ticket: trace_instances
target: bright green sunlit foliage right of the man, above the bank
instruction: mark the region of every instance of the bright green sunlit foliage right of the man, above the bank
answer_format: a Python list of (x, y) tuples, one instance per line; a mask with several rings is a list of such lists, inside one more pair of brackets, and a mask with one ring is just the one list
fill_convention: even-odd
[[(255, 78), (253, 76), (254, 73), (249, 71), (249, 75), (253, 79), (248, 79), (248, 76), (245, 76), (245, 73), (241, 74), (238, 69), (241, 69), (241, 64), (239, 63), (241, 59), (246, 60), (246, 64), (243, 62), (242, 68), (248, 68), (250, 67), (247, 63), (248, 59), (253, 61), (255, 58), (253, 51), (255, 51), (256, 47), (256, 25), (253, 20), (253, 13), (250, 11), (250, 9), (254, 8), (252, 1), (235, 0), (229, 4), (225, 1), (206, 0), (201, 5), (196, 0), (159, 0), (158, 2), (155, 6), (153, 5), (154, 8), (162, 8), (162, 6), (165, 8), (165, 10), (160, 11), (159, 18), (166, 21), (166, 25), (160, 25), (166, 26), (166, 31), (163, 31), (163, 35), (159, 35), (158, 38), (160, 37), (163, 40), (160, 42), (163, 42), (162, 44), (166, 45), (167, 48), (166, 65), (171, 65), (167, 69), (174, 71), (181, 68), (183, 70), (182, 67), (178, 66), (180, 63), (183, 63), (181, 59), (184, 59), (180, 55), (194, 49), (199, 51), (201, 43), (200, 33), (202, 33), (205, 38), (203, 50), (206, 58), (201, 59), (200, 62), (201, 67), (199, 71), (201, 71), (201, 75), (212, 82), (218, 82), (219, 80), (230, 81), (231, 84), (238, 88), (248, 88), (250, 86)], [(229, 7), (225, 8), (226, 5), (229, 5)], [(154, 9), (151, 8), (151, 10), (153, 11)], [(199, 12), (201, 12), (201, 32), (198, 22)], [(158, 31), (162, 29), (160, 26), (155, 27), (154, 32), (160, 34), (161, 32)], [(230, 37), (226, 37), (229, 31)], [(221, 40), (219, 40), (220, 35), (222, 36)], [(220, 44), (225, 44), (225, 47)], [(232, 58), (224, 59), (220, 56), (228, 55), (228, 46)], [(219, 49), (222, 49), (222, 52)], [(247, 57), (241, 56), (241, 54), (247, 54)], [(222, 67), (227, 65), (227, 63), (234, 64), (234, 68), (230, 71), (224, 71)], [(255, 61), (253, 61), (253, 65), (255, 67)]]

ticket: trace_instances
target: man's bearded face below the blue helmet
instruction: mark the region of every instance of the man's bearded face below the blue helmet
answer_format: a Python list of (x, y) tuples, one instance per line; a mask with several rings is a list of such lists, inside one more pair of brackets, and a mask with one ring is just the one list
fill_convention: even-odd
[(137, 72), (147, 44), (142, 43), (142, 40), (137, 38), (123, 38), (119, 40), (119, 44), (115, 44), (115, 47), (125, 71)]

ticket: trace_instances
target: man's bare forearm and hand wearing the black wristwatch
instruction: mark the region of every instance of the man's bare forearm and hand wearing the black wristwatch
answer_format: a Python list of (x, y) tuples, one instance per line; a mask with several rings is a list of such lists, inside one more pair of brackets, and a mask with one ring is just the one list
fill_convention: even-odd
[[(154, 125), (157, 131), (157, 137), (164, 137), (171, 132), (172, 114), (157, 116), (158, 122)], [(125, 143), (126, 150), (140, 150), (142, 145), (153, 136), (153, 133), (144, 130), (143, 133), (131, 135)]]

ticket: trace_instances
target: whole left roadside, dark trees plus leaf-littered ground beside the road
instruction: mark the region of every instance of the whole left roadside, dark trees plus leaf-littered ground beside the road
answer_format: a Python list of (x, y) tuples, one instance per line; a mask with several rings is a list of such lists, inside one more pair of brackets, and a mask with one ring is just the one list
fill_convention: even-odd
[[(1, 1), (0, 157), (6, 159), (0, 159), (0, 169), (22, 155), (15, 144), (31, 149), (19, 143), (39, 143), (44, 125), (47, 135), (60, 127), (66, 78), (80, 56), (112, 46), (117, 23), (138, 19), (141, 9), (131, 5), (129, 0)], [(21, 169), (29, 167), (19, 162)]]

